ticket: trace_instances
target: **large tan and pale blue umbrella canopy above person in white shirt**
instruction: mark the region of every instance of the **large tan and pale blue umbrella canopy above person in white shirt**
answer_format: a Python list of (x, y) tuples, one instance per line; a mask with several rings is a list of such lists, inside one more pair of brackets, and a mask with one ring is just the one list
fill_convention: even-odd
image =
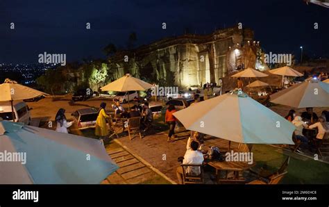
[(186, 129), (233, 142), (294, 144), (294, 125), (243, 92), (201, 101), (174, 116)]

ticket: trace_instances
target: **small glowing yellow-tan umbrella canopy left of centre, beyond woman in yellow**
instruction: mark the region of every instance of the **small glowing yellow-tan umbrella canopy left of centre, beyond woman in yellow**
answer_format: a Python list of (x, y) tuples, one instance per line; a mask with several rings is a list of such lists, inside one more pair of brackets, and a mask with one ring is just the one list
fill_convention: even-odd
[(147, 90), (152, 87), (153, 85), (146, 83), (138, 78), (134, 78), (133, 76), (130, 76), (130, 74), (126, 74), (125, 76), (117, 79), (117, 81), (113, 81), (112, 83), (103, 86), (101, 90), (126, 92), (131, 90)]

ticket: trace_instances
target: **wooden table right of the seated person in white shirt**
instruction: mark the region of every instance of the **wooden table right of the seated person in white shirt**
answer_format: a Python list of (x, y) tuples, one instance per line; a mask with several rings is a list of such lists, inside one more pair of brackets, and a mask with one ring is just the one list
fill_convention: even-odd
[[(249, 165), (248, 162), (219, 162), (217, 160), (209, 161), (207, 164), (216, 169), (216, 177), (219, 182), (244, 182), (245, 180), (239, 177), (239, 172), (244, 172), (246, 169), (250, 169), (256, 165), (256, 163)], [(226, 171), (225, 179), (220, 179), (221, 171)], [(229, 171), (233, 172), (233, 179), (228, 179)]]

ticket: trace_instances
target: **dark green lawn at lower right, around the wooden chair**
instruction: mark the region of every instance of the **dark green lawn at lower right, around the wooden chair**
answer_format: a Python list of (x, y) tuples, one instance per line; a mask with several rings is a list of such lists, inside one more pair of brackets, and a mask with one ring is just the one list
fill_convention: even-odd
[[(253, 159), (256, 167), (267, 165), (271, 171), (275, 171), (287, 158), (282, 149), (264, 144), (254, 144)], [(282, 179), (282, 184), (328, 184), (329, 164), (306, 158), (298, 154), (290, 156), (287, 167), (288, 174)]]

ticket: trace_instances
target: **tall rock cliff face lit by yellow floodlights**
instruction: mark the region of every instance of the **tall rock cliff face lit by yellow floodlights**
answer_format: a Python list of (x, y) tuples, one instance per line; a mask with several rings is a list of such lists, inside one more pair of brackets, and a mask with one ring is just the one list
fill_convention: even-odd
[[(248, 44), (248, 41), (251, 43)], [(150, 83), (180, 88), (218, 83), (237, 65), (255, 68), (257, 46), (253, 31), (226, 28), (211, 35), (183, 35), (165, 38), (131, 51), (122, 51), (110, 60), (115, 78), (129, 72)], [(128, 63), (124, 63), (128, 56)]]

